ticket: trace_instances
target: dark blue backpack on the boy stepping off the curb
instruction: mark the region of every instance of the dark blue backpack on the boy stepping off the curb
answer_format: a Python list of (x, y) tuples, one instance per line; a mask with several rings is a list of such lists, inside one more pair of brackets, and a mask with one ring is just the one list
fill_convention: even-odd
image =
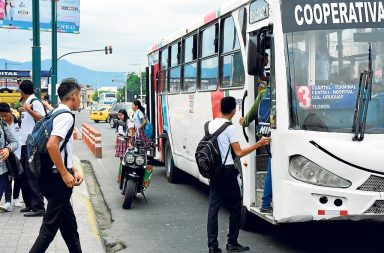
[(66, 163), (68, 154), (66, 146), (75, 127), (75, 116), (70, 111), (62, 109), (55, 112), (49, 112), (43, 119), (36, 122), (32, 133), (27, 137), (26, 145), (29, 157), (28, 163), (32, 173), (37, 177), (44, 177), (48, 175), (53, 168), (54, 164), (49, 156), (47, 143), (53, 129), (53, 120), (62, 113), (70, 113), (73, 116), (73, 125), (69, 129), (67, 135), (65, 136), (65, 140), (60, 147), (60, 153), (65, 148), (64, 164), (67, 166)]

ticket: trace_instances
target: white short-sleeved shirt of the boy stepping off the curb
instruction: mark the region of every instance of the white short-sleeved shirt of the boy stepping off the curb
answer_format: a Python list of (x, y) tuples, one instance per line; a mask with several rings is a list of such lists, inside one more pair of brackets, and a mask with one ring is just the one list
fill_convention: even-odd
[[(64, 104), (59, 104), (59, 106), (53, 110), (52, 113), (56, 112), (57, 110), (67, 110), (71, 111), (68, 106)], [(59, 148), (64, 143), (65, 137), (68, 134), (68, 131), (71, 129), (73, 125), (74, 118), (71, 113), (62, 113), (58, 115), (54, 120), (53, 120), (53, 128), (52, 128), (52, 133), (51, 136), (59, 136), (61, 137), (61, 141), (59, 144)], [(67, 168), (72, 169), (73, 168), (73, 134), (71, 134), (71, 137), (69, 138), (69, 141), (66, 146), (67, 153), (68, 153), (68, 158), (67, 158)], [(65, 153), (64, 149), (61, 152), (61, 159), (64, 161)], [(64, 163), (65, 165), (65, 163)], [(53, 166), (56, 168), (56, 166)]]

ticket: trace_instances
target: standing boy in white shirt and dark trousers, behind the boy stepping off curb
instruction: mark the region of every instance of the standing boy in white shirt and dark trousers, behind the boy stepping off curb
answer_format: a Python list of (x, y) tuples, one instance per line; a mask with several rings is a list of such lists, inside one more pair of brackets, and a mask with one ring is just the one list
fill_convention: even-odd
[(32, 133), (36, 121), (41, 120), (46, 112), (43, 104), (36, 98), (33, 91), (33, 83), (30, 80), (23, 80), (20, 85), (20, 94), (24, 104), (19, 108), (21, 115), (20, 125), (20, 144), (21, 144), (21, 163), (24, 168), (22, 177), (21, 191), (23, 193), (25, 208), (20, 212), (25, 213), (25, 217), (44, 216), (44, 198), (39, 189), (37, 176), (29, 168), (28, 153), (26, 147), (27, 137)]

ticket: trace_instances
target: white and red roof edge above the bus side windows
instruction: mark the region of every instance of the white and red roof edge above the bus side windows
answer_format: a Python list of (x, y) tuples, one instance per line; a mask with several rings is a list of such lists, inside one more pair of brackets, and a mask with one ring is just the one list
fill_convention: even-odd
[(158, 51), (163, 46), (172, 43), (173, 41), (187, 35), (190, 32), (197, 30), (199, 27), (210, 23), (211, 21), (227, 14), (228, 12), (235, 10), (236, 8), (246, 4), (248, 2), (249, 2), (249, 0), (234, 0), (234, 1), (231, 1), (231, 2), (224, 4), (219, 9), (216, 9), (216, 10), (211, 11), (208, 14), (206, 14), (203, 19), (200, 19), (198, 22), (194, 23), (193, 25), (190, 25), (190, 26), (186, 27), (185, 29), (178, 31), (178, 32), (168, 36), (167, 38), (161, 40), (159, 43), (153, 45), (151, 48), (148, 49), (147, 54), (151, 54), (155, 51)]

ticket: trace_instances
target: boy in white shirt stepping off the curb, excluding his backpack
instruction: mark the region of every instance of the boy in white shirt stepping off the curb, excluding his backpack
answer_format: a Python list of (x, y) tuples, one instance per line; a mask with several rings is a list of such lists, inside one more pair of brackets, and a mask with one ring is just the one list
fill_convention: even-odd
[[(80, 106), (80, 86), (75, 79), (64, 79), (57, 93), (61, 103), (54, 109), (76, 111)], [(75, 123), (75, 116), (69, 113), (59, 114), (53, 120), (51, 136), (47, 143), (47, 150), (54, 166), (51, 173), (40, 178), (41, 191), (48, 200), (47, 211), (40, 227), (39, 235), (30, 253), (45, 252), (53, 241), (57, 231), (67, 244), (68, 251), (81, 251), (79, 233), (77, 232), (76, 216), (70, 202), (74, 186), (79, 186), (82, 175), (73, 165), (73, 135), (60, 154), (60, 147)]]

